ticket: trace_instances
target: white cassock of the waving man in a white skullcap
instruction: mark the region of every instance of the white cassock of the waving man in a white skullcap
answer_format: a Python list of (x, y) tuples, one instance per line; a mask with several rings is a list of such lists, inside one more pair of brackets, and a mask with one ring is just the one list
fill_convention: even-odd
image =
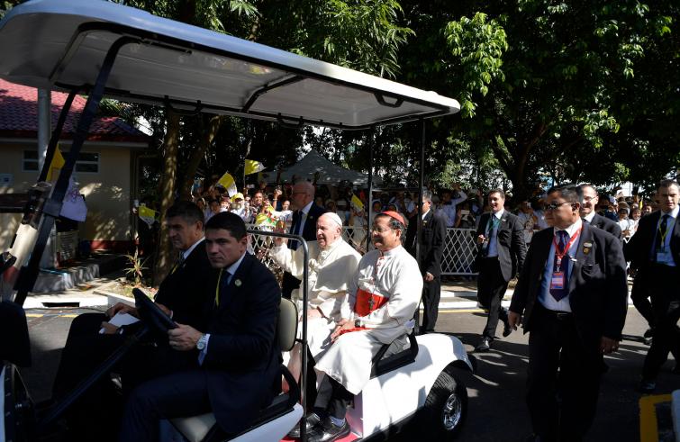
[[(331, 333), (340, 320), (340, 307), (345, 302), (348, 283), (357, 273), (361, 255), (343, 239), (336, 239), (331, 246), (320, 248), (317, 241), (307, 243), (309, 249), (309, 272), (307, 274), (309, 310), (319, 309), (325, 318), (307, 320), (307, 343), (314, 360), (319, 360), (322, 353), (331, 347)], [(303, 279), (303, 248), (291, 250), (286, 246), (271, 248), (269, 256), (291, 275)], [(291, 299), (300, 311), (298, 319), (302, 319), (303, 308), (302, 284), (291, 293)], [(297, 328), (297, 338), (302, 337), (302, 326)], [(291, 351), (290, 371), (299, 374), (300, 345), (295, 344)], [(295, 373), (296, 372), (296, 373)]]

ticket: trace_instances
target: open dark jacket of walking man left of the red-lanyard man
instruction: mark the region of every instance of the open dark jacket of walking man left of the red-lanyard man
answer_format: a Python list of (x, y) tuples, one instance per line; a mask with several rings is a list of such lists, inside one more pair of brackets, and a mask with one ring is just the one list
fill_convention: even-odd
[[(486, 223), (489, 222), (491, 212), (485, 212), (479, 220), (476, 236), (484, 235)], [(498, 261), (501, 264), (501, 273), (505, 281), (510, 281), (512, 276), (521, 272), (524, 257), (527, 254), (524, 242), (524, 226), (519, 218), (511, 212), (503, 211), (501, 225), (498, 227)], [(482, 257), (482, 247), (477, 248), (477, 260)], [(478, 265), (477, 268), (480, 268)]]

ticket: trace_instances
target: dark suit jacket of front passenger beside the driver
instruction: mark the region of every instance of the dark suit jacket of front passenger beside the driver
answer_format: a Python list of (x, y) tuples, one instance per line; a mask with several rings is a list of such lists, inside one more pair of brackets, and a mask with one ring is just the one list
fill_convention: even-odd
[(160, 283), (155, 301), (173, 312), (173, 320), (195, 329), (205, 329), (204, 305), (210, 298), (210, 279), (213, 267), (201, 241), (186, 257), (181, 266)]

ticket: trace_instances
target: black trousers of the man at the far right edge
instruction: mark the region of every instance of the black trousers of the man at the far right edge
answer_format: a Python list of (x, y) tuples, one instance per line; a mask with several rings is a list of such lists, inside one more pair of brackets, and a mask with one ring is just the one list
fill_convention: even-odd
[[(657, 379), (658, 370), (668, 358), (668, 352), (680, 355), (680, 330), (676, 323), (680, 319), (680, 271), (677, 267), (656, 265), (649, 272), (649, 284), (654, 309), (654, 338), (649, 346), (642, 377)], [(680, 362), (675, 361), (678, 364)]]

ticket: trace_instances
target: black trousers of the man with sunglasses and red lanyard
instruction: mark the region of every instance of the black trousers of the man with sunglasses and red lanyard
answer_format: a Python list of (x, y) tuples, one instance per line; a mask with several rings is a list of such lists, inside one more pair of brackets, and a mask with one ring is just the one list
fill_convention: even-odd
[(573, 316), (559, 319), (537, 302), (531, 316), (527, 405), (535, 434), (581, 440), (593, 423), (603, 356), (599, 340), (584, 342)]

